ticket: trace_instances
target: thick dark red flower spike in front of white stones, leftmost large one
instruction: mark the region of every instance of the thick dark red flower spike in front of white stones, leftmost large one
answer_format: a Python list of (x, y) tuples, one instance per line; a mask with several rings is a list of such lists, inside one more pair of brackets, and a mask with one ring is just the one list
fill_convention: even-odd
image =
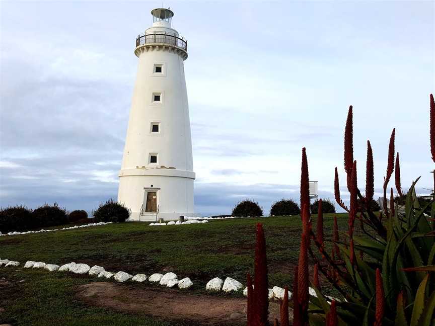
[(266, 240), (263, 225), (257, 223), (257, 241), (255, 246), (254, 267), (254, 305), (253, 322), (255, 325), (267, 325), (269, 314), (269, 290), (267, 279)]

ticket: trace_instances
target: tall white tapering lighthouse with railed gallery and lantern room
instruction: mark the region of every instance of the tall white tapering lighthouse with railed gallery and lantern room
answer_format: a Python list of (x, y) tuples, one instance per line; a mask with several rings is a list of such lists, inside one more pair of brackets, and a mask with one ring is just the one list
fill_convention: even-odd
[(151, 15), (153, 26), (136, 38), (136, 83), (119, 171), (118, 202), (135, 221), (195, 215), (187, 41), (172, 28), (171, 10)]

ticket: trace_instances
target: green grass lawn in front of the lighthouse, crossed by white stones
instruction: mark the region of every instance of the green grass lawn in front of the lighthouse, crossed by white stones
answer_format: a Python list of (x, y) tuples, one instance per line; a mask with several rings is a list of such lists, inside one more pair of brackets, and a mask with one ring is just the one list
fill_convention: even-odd
[[(337, 214), (339, 228), (347, 229), (347, 214)], [(324, 215), (325, 239), (332, 237), (333, 214)], [(313, 216), (313, 227), (315, 227)], [(245, 283), (253, 273), (255, 225), (262, 222), (266, 234), (269, 285), (289, 286), (293, 282), (301, 238), (299, 216), (228, 219), (205, 224), (148, 226), (128, 222), (75, 230), (0, 237), (0, 257), (24, 265), (28, 260), (62, 265), (69, 262), (100, 265), (108, 271), (130, 274), (173, 271), (179, 279), (190, 277), (192, 292), (204, 292), (213, 277), (233, 277)], [(329, 250), (330, 243), (325, 243)], [(9, 295), (0, 295), (0, 323), (37, 325), (63, 324), (169, 325), (146, 316), (123, 314), (85, 306), (74, 300), (78, 285), (95, 280), (70, 273), (49, 273), (0, 268), (0, 283)], [(26, 282), (19, 283), (25, 279)], [(4, 281), (5, 281), (4, 280)], [(30, 282), (28, 281), (30, 280)], [(151, 285), (147, 285), (151, 286)], [(2, 317), (3, 315), (3, 317)], [(177, 323), (179, 324), (179, 323)]]

